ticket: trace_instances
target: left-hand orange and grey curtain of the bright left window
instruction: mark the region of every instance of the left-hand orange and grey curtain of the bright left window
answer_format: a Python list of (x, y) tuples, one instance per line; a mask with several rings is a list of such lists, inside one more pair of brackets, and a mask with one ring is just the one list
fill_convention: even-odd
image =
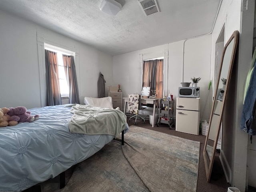
[(46, 106), (61, 105), (57, 53), (45, 50)]

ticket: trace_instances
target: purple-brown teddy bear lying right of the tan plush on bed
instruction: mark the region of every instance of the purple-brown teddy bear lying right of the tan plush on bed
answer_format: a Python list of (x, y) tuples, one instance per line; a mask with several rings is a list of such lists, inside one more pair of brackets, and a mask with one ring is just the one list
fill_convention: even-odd
[(7, 114), (10, 115), (10, 120), (18, 120), (19, 123), (32, 122), (40, 117), (39, 115), (32, 116), (31, 112), (27, 111), (26, 107), (23, 106), (9, 108)]

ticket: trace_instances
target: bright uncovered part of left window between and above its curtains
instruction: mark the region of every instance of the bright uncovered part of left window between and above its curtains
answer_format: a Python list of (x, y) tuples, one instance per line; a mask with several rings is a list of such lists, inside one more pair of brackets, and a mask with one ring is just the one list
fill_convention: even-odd
[(55, 47), (55, 46), (52, 46), (52, 45), (49, 45), (49, 44), (45, 44), (45, 49), (57, 53), (57, 57), (58, 57), (58, 76), (59, 76), (59, 82), (60, 82), (60, 94), (61, 94), (62, 98), (69, 97), (68, 81), (66, 79), (62, 54), (74, 55), (74, 52), (64, 50), (62, 48), (58, 48), (58, 47)]

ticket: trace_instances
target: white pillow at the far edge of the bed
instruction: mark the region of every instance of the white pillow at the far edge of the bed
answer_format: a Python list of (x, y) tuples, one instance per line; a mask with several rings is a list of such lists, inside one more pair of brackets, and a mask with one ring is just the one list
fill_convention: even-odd
[(84, 104), (95, 106), (95, 107), (113, 109), (112, 97), (102, 97), (102, 98), (84, 97)]

